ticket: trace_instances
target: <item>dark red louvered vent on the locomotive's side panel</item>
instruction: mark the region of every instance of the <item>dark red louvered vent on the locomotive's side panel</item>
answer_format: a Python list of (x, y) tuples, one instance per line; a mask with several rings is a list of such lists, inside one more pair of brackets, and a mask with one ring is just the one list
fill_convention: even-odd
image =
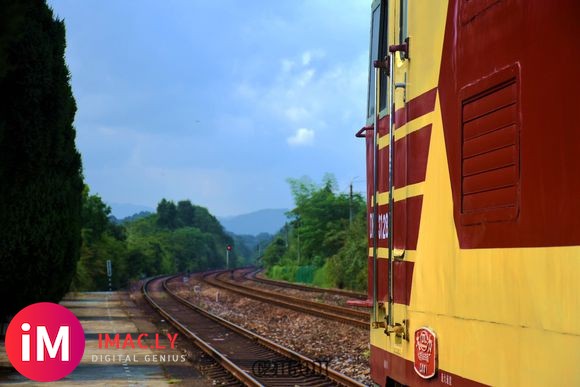
[(518, 214), (519, 106), (517, 78), (462, 104), (461, 213), (464, 225)]

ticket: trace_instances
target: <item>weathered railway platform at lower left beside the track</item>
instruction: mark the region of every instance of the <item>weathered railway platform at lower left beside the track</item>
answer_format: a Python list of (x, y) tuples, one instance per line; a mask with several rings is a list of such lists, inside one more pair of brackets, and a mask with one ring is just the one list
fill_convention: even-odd
[[(203, 378), (185, 359), (183, 351), (176, 346), (171, 349), (165, 337), (166, 329), (154, 325), (150, 316), (138, 308), (126, 292), (71, 293), (61, 302), (80, 320), (85, 331), (85, 353), (79, 366), (67, 377), (55, 384), (65, 386), (165, 386), (182, 384), (204, 386)], [(161, 317), (159, 317), (161, 320)], [(162, 323), (162, 322), (161, 322)], [(139, 346), (123, 348), (124, 339), (130, 334), (136, 339), (147, 333)], [(164, 341), (157, 345), (155, 333)], [(101, 345), (99, 345), (101, 334)], [(104, 334), (114, 338), (119, 334), (119, 348), (105, 348)], [(161, 345), (163, 344), (163, 345)], [(151, 348), (153, 347), (153, 348)], [(0, 343), (0, 385), (36, 385), (20, 375), (6, 356), (4, 340)]]

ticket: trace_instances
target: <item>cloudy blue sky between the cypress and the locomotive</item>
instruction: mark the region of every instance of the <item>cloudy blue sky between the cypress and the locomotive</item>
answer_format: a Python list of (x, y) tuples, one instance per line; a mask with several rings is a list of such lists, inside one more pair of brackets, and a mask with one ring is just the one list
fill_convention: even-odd
[(48, 0), (67, 31), (91, 193), (218, 216), (364, 191), (370, 1)]

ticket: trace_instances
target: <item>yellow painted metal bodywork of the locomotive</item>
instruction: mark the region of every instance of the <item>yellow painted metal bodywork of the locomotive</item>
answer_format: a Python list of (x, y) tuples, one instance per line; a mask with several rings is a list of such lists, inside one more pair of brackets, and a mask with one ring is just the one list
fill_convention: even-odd
[[(398, 4), (390, 2), (391, 37), (398, 36)], [(445, 1), (409, 1), (411, 60), (397, 59), (395, 79), (402, 82), (407, 72), (407, 101), (437, 87), (446, 12)], [(396, 103), (403, 106), (402, 91)], [(494, 386), (580, 386), (580, 247), (460, 249), (439, 95), (435, 111), (414, 121), (397, 139), (433, 126), (425, 182), (395, 191), (395, 200), (423, 195), (417, 250), (404, 256), (414, 262), (411, 301), (394, 306), (395, 322), (408, 318), (411, 336), (422, 326), (433, 329), (439, 368), (464, 378)], [(388, 145), (388, 137), (380, 141)], [(388, 203), (388, 193), (378, 200)], [(387, 249), (378, 256), (387, 258)], [(371, 329), (371, 343), (413, 361), (412, 340), (401, 342), (381, 328)]]

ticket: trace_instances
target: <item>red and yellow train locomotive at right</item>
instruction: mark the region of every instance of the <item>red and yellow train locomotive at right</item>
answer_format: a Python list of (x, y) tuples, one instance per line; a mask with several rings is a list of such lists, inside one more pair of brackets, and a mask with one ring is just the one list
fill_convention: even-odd
[(380, 386), (580, 385), (580, 3), (375, 0)]

